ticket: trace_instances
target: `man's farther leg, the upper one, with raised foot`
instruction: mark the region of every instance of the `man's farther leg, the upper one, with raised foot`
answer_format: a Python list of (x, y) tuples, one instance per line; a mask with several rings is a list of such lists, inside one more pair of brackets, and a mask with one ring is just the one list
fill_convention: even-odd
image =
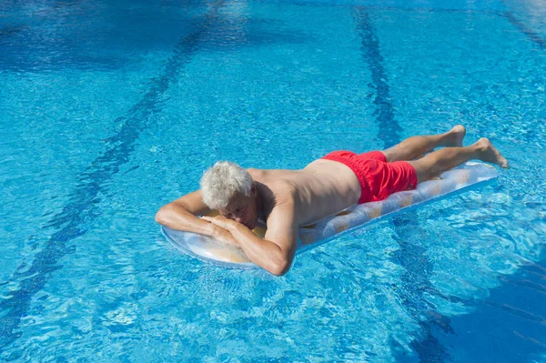
[(387, 161), (413, 160), (438, 146), (462, 146), (462, 139), (466, 129), (462, 125), (454, 126), (450, 131), (441, 135), (413, 136), (405, 139), (396, 146), (392, 146), (382, 153)]

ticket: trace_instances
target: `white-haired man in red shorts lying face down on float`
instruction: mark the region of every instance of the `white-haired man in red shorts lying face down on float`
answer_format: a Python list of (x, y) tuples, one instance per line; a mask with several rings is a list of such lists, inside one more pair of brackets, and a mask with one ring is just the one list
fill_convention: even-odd
[[(508, 168), (487, 138), (463, 147), (465, 134), (458, 125), (445, 134), (410, 137), (382, 152), (336, 151), (300, 170), (245, 170), (217, 162), (202, 177), (201, 189), (161, 207), (156, 221), (238, 246), (259, 267), (284, 275), (296, 252), (298, 227), (355, 203), (414, 189), (470, 159)], [(438, 146), (446, 147), (423, 156)], [(214, 209), (219, 216), (198, 217)], [(264, 238), (252, 232), (258, 219), (268, 227)]]

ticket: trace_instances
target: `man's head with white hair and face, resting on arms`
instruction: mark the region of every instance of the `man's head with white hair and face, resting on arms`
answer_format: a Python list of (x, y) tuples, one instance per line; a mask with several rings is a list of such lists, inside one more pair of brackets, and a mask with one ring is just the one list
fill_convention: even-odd
[(207, 207), (250, 229), (258, 222), (258, 189), (248, 171), (229, 161), (218, 161), (201, 178)]

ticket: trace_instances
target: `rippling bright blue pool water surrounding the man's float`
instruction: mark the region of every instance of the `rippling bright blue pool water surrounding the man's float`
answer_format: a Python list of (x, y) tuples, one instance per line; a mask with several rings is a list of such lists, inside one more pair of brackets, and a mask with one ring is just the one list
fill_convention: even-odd
[[(546, 361), (541, 0), (0, 0), (0, 359)], [(286, 277), (154, 215), (217, 159), (298, 168), (463, 123), (489, 187)]]

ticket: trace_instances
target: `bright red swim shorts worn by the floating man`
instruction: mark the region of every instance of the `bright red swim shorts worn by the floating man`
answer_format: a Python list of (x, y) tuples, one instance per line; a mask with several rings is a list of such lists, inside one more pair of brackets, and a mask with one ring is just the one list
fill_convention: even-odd
[(349, 166), (355, 173), (360, 183), (359, 204), (383, 200), (393, 193), (417, 187), (417, 172), (410, 163), (389, 163), (380, 151), (364, 154), (334, 151), (322, 158)]

